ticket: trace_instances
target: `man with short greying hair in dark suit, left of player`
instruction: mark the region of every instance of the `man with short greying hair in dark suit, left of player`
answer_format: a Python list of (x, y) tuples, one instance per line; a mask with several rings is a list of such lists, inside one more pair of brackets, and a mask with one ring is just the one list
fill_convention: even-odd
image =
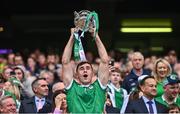
[(37, 78), (32, 83), (32, 89), (35, 96), (21, 102), (19, 113), (49, 113), (52, 103), (46, 98), (49, 90), (46, 80)]

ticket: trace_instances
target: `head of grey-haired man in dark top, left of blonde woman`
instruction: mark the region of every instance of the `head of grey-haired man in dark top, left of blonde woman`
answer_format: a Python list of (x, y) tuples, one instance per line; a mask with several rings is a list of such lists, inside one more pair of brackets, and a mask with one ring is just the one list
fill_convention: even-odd
[(135, 52), (132, 55), (132, 65), (133, 65), (133, 68), (136, 70), (142, 69), (144, 65), (144, 57), (141, 53)]

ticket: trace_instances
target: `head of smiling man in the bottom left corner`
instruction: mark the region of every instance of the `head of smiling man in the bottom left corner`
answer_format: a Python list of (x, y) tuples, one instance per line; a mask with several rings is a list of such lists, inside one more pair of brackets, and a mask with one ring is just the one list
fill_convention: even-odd
[(0, 112), (3, 114), (16, 114), (16, 103), (13, 98), (9, 97), (1, 101)]

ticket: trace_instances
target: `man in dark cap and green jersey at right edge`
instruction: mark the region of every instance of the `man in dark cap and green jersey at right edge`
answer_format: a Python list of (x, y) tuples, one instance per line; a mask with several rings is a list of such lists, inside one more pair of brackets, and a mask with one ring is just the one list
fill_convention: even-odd
[(177, 75), (170, 75), (164, 81), (164, 94), (160, 97), (157, 97), (156, 100), (161, 104), (169, 107), (170, 104), (177, 104), (180, 107), (180, 96), (179, 91), (179, 79)]

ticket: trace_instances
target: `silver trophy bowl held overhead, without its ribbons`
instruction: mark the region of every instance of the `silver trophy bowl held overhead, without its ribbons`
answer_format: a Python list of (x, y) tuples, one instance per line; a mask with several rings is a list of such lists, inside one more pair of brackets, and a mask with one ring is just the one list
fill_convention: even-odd
[(87, 16), (90, 14), (91, 12), (88, 10), (81, 10), (80, 12), (74, 12), (74, 25), (75, 27), (77, 27), (79, 30), (81, 31), (89, 31), (90, 28), (95, 28), (95, 20), (94, 18), (90, 18), (89, 23), (87, 25), (87, 27), (85, 27), (86, 25), (86, 19)]

